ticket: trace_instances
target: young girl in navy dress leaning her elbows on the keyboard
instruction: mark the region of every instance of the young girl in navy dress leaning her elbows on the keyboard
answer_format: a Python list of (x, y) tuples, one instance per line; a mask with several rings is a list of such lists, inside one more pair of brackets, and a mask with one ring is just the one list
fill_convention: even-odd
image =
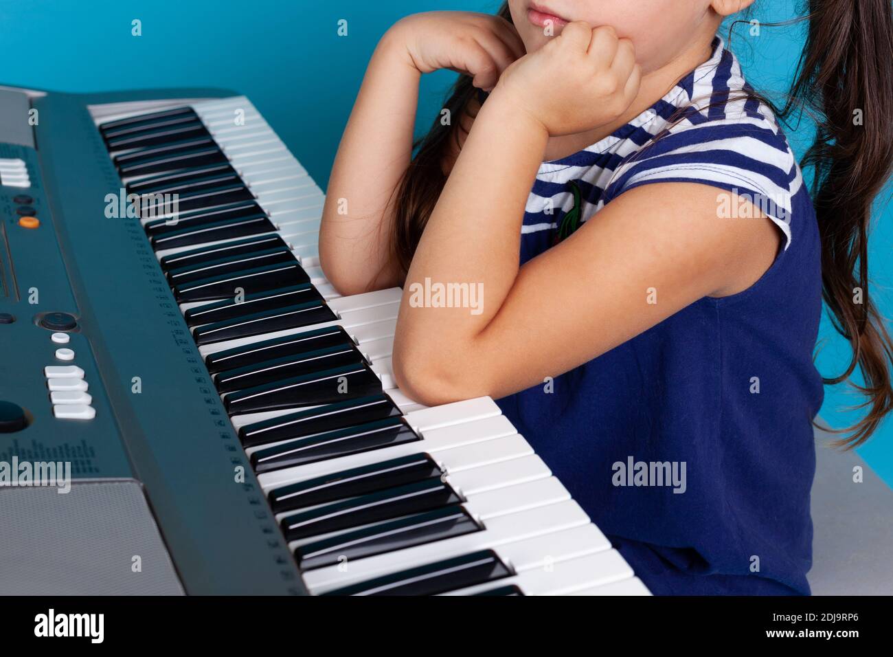
[[(809, 593), (822, 296), (854, 353), (829, 383), (858, 365), (868, 395), (847, 444), (893, 405), (866, 296), (893, 160), (889, 0), (809, 2), (784, 114), (820, 117), (812, 200), (715, 36), (753, 2), (509, 0), (399, 21), (321, 228), (339, 291), (404, 286), (400, 387), (498, 398), (655, 594)], [(420, 75), (444, 68), (464, 75), (413, 159)], [(419, 307), (426, 280), (480, 286), (483, 304)]]

